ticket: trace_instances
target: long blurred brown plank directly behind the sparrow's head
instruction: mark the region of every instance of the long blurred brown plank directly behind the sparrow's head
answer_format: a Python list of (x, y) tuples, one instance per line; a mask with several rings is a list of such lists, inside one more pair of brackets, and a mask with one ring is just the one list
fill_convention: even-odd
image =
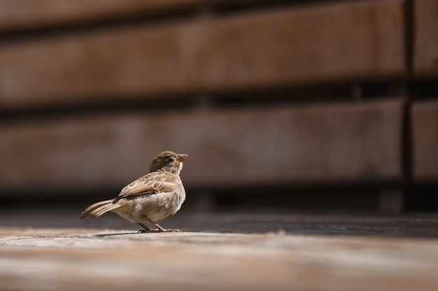
[(400, 181), (402, 100), (1, 126), (0, 188), (123, 186), (160, 151), (187, 186)]

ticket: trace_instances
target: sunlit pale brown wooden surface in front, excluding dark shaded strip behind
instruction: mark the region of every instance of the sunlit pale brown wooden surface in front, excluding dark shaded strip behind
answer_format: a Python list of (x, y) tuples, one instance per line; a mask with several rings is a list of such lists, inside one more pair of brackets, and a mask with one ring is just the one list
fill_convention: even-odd
[(4, 290), (435, 291), (438, 284), (433, 239), (27, 227), (0, 229), (0, 244)]

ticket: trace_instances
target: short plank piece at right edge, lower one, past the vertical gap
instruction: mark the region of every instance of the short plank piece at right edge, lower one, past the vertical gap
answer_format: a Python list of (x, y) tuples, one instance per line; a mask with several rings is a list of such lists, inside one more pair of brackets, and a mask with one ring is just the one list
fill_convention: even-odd
[(438, 181), (438, 101), (414, 103), (412, 108), (414, 179)]

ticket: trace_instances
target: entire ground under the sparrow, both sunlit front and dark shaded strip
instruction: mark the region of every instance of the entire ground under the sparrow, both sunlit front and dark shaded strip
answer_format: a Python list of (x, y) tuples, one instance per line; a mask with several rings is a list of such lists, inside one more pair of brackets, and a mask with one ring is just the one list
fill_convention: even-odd
[(181, 211), (137, 234), (76, 209), (0, 214), (1, 290), (438, 290), (438, 216)]

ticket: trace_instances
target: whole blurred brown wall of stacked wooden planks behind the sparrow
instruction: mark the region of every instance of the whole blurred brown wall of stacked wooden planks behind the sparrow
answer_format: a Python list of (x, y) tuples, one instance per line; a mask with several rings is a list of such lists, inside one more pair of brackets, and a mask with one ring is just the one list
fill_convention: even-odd
[(438, 209), (438, 2), (0, 0), (0, 134), (4, 203), (172, 150), (195, 207)]

